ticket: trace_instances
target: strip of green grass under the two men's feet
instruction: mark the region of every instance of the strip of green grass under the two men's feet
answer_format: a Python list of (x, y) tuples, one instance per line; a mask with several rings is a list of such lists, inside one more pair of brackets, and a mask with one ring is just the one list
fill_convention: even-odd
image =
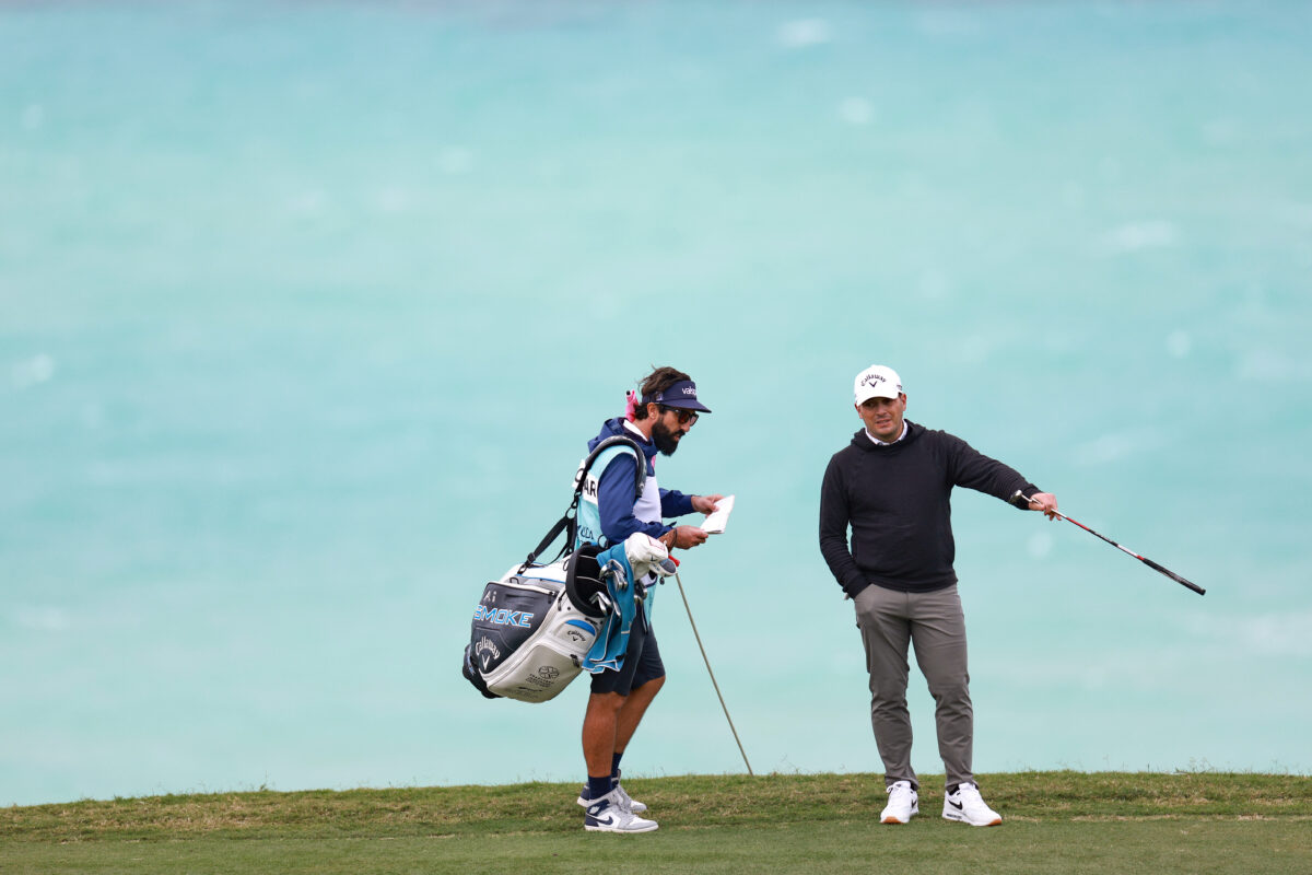
[(0, 809), (0, 872), (1281, 872), (1312, 875), (1312, 779), (985, 775), (1005, 823), (876, 823), (876, 775), (626, 779), (660, 830), (584, 833), (577, 784), (154, 796)]

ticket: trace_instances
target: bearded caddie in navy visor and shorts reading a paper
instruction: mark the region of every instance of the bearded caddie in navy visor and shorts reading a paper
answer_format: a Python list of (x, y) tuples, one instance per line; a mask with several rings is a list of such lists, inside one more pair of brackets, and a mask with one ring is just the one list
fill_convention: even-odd
[[(589, 483), (585, 499), (596, 496), (596, 513), (580, 510), (580, 537), (602, 546), (623, 542), (635, 531), (659, 538), (666, 547), (695, 547), (706, 540), (706, 531), (694, 526), (669, 526), (666, 517), (681, 517), (698, 510), (711, 513), (720, 495), (689, 496), (674, 489), (661, 489), (656, 483), (657, 453), (673, 455), (680, 442), (697, 424), (699, 413), (710, 408), (697, 400), (697, 384), (673, 367), (657, 367), (643, 380), (640, 395), (630, 392), (625, 416), (607, 420), (601, 433), (588, 442), (592, 450), (609, 437), (622, 436), (642, 449), (647, 463), (647, 480), (642, 493), (634, 485), (631, 455), (614, 455), (601, 471), (594, 471), (596, 489)], [(615, 462), (615, 459), (621, 459)], [(596, 519), (597, 533), (585, 531)], [(651, 580), (646, 581), (648, 585)], [(639, 581), (638, 586), (644, 582)], [(579, 794), (586, 809), (584, 829), (610, 833), (646, 833), (657, 828), (655, 820), (639, 817), (647, 805), (635, 802), (619, 784), (619, 760), (634, 737), (643, 714), (665, 683), (656, 634), (640, 602), (638, 618), (631, 624), (628, 649), (618, 670), (606, 669), (592, 676), (592, 694), (583, 722), (583, 756), (588, 765), (588, 783)]]

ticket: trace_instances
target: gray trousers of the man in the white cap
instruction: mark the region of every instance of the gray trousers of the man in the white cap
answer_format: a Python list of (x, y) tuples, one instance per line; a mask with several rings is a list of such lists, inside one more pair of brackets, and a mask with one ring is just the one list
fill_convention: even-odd
[(870, 725), (884, 761), (886, 784), (909, 781), (920, 786), (911, 767), (908, 644), (914, 645), (916, 662), (934, 697), (938, 754), (947, 786), (974, 782), (975, 712), (966, 669), (966, 618), (955, 584), (933, 593), (899, 593), (870, 585), (857, 594), (855, 603), (870, 672)]

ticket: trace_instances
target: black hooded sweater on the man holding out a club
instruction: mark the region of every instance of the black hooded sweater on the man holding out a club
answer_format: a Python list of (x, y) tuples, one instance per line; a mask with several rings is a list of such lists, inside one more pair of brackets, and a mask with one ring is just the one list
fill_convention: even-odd
[(834, 453), (820, 489), (820, 552), (844, 592), (855, 597), (878, 584), (926, 593), (955, 584), (953, 487), (1004, 501), (1017, 489), (1025, 497), (1039, 492), (959, 437), (911, 421), (897, 443), (879, 446), (861, 430)]

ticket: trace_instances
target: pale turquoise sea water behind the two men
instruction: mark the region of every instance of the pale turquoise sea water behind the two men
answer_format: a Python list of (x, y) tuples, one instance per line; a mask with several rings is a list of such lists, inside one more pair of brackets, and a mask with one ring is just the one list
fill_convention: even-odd
[[(1312, 10), (0, 9), (0, 804), (581, 777), (458, 673), (651, 363), (756, 771), (878, 771), (820, 475), (892, 365), (958, 493), (976, 770), (1312, 771)], [(739, 771), (677, 593), (631, 774)], [(914, 765), (938, 771), (913, 683)]]

